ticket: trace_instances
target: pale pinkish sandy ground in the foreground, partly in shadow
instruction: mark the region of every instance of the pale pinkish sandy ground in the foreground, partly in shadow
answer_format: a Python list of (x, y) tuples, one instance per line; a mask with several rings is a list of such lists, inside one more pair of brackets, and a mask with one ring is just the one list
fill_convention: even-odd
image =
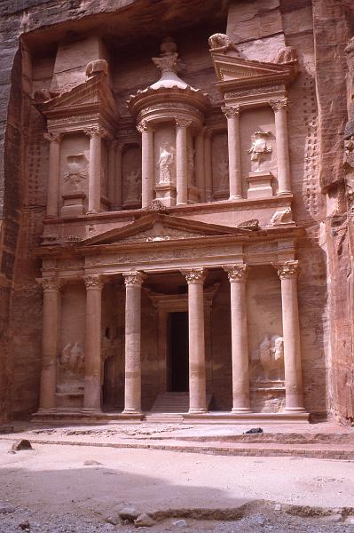
[[(26, 521), (29, 530), (41, 533), (130, 531), (129, 524), (106, 521), (125, 505), (141, 513), (166, 512), (164, 521), (145, 529), (150, 531), (354, 531), (351, 511), (342, 511), (353, 507), (354, 513), (351, 461), (55, 444), (9, 454), (11, 444), (0, 442), (0, 502), (11, 511), (1, 513), (0, 505), (1, 533), (20, 531)], [(242, 505), (248, 509), (243, 518), (225, 520)], [(303, 519), (286, 513), (288, 505), (311, 514), (303, 506), (329, 508), (332, 516)], [(216, 520), (193, 520), (198, 510), (201, 519), (201, 510), (210, 510), (208, 518)], [(185, 516), (184, 528), (172, 525), (173, 515)]]

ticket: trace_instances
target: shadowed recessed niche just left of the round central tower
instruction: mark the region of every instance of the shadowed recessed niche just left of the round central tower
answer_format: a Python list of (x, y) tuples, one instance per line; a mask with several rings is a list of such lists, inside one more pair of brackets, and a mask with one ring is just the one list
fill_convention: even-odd
[(122, 154), (122, 189), (124, 207), (141, 206), (141, 149), (135, 144)]

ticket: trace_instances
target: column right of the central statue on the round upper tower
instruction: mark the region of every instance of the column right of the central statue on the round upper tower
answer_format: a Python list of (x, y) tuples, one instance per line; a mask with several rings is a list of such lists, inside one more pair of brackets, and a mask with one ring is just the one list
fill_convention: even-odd
[(191, 123), (192, 121), (185, 118), (176, 119), (177, 205), (188, 203), (187, 127)]

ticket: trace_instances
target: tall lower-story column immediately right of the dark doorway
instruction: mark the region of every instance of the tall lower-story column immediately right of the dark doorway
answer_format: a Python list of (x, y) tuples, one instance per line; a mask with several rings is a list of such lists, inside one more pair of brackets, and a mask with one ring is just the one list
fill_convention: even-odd
[(188, 283), (189, 412), (207, 410), (204, 339), (204, 268), (182, 271)]

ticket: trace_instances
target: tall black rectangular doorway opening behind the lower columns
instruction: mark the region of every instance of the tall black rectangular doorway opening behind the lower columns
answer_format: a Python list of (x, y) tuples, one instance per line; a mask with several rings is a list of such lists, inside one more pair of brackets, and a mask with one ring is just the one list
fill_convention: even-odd
[(188, 313), (169, 314), (169, 392), (189, 390)]

